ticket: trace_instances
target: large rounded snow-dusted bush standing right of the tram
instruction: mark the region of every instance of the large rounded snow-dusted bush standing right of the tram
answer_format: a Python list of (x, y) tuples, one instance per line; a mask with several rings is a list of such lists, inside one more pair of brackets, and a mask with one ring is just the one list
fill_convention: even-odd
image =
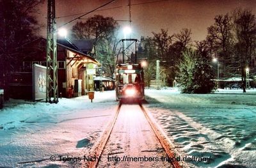
[(197, 52), (183, 52), (178, 68), (177, 81), (182, 93), (211, 93), (214, 88), (212, 68)]

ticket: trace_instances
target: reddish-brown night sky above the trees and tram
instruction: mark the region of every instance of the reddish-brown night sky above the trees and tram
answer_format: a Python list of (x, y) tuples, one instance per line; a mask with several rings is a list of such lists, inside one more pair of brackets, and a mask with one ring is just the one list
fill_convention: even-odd
[[(60, 26), (80, 15), (63, 16), (86, 13), (109, 1), (111, 0), (56, 0), (56, 17), (61, 17), (57, 19), (57, 25)], [(186, 27), (191, 28), (193, 40), (204, 40), (207, 34), (207, 27), (213, 24), (215, 15), (225, 14), (239, 7), (252, 10), (256, 14), (256, 0), (169, 0), (149, 3), (152, 1), (157, 0), (131, 0), (131, 4), (138, 4), (131, 6), (131, 38), (152, 36), (152, 31), (158, 33), (161, 28), (168, 29), (169, 34), (172, 35)], [(104, 15), (104, 17), (113, 17), (116, 20), (129, 20), (128, 2), (128, 0), (116, 0), (114, 3), (102, 8), (112, 9), (95, 11), (84, 18), (99, 14)], [(115, 8), (118, 6), (123, 7)], [(46, 4), (42, 5), (40, 10), (40, 13), (46, 15)], [(39, 15), (39, 17), (41, 23), (46, 24), (46, 19), (42, 15)], [(118, 23), (121, 27), (125, 26), (125, 24), (129, 25), (129, 22)], [(73, 24), (68, 24), (65, 27), (70, 29)], [(121, 30), (120, 33), (122, 33)], [(42, 35), (45, 36), (45, 34), (45, 30), (43, 30)]]

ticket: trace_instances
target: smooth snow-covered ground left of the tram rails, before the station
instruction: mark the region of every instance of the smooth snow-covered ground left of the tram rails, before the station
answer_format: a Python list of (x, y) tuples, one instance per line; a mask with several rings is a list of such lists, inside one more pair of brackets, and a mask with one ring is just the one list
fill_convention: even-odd
[[(0, 167), (70, 167), (49, 158), (88, 157), (117, 102), (113, 94), (62, 98), (57, 104), (11, 100), (0, 110)], [(65, 158), (64, 158), (65, 159)]]

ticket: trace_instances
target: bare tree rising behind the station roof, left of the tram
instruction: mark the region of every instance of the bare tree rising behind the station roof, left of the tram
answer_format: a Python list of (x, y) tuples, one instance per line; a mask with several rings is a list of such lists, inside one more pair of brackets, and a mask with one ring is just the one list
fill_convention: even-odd
[(115, 34), (117, 29), (118, 23), (112, 17), (102, 15), (94, 15), (72, 27), (73, 38), (95, 40), (96, 58), (110, 77), (115, 71), (115, 58), (120, 52)]

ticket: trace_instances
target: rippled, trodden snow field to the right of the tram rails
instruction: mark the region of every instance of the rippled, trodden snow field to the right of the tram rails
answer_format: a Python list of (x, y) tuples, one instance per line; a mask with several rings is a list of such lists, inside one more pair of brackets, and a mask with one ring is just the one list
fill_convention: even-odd
[(256, 90), (188, 95), (148, 90), (146, 107), (179, 155), (211, 157), (198, 167), (256, 167)]

